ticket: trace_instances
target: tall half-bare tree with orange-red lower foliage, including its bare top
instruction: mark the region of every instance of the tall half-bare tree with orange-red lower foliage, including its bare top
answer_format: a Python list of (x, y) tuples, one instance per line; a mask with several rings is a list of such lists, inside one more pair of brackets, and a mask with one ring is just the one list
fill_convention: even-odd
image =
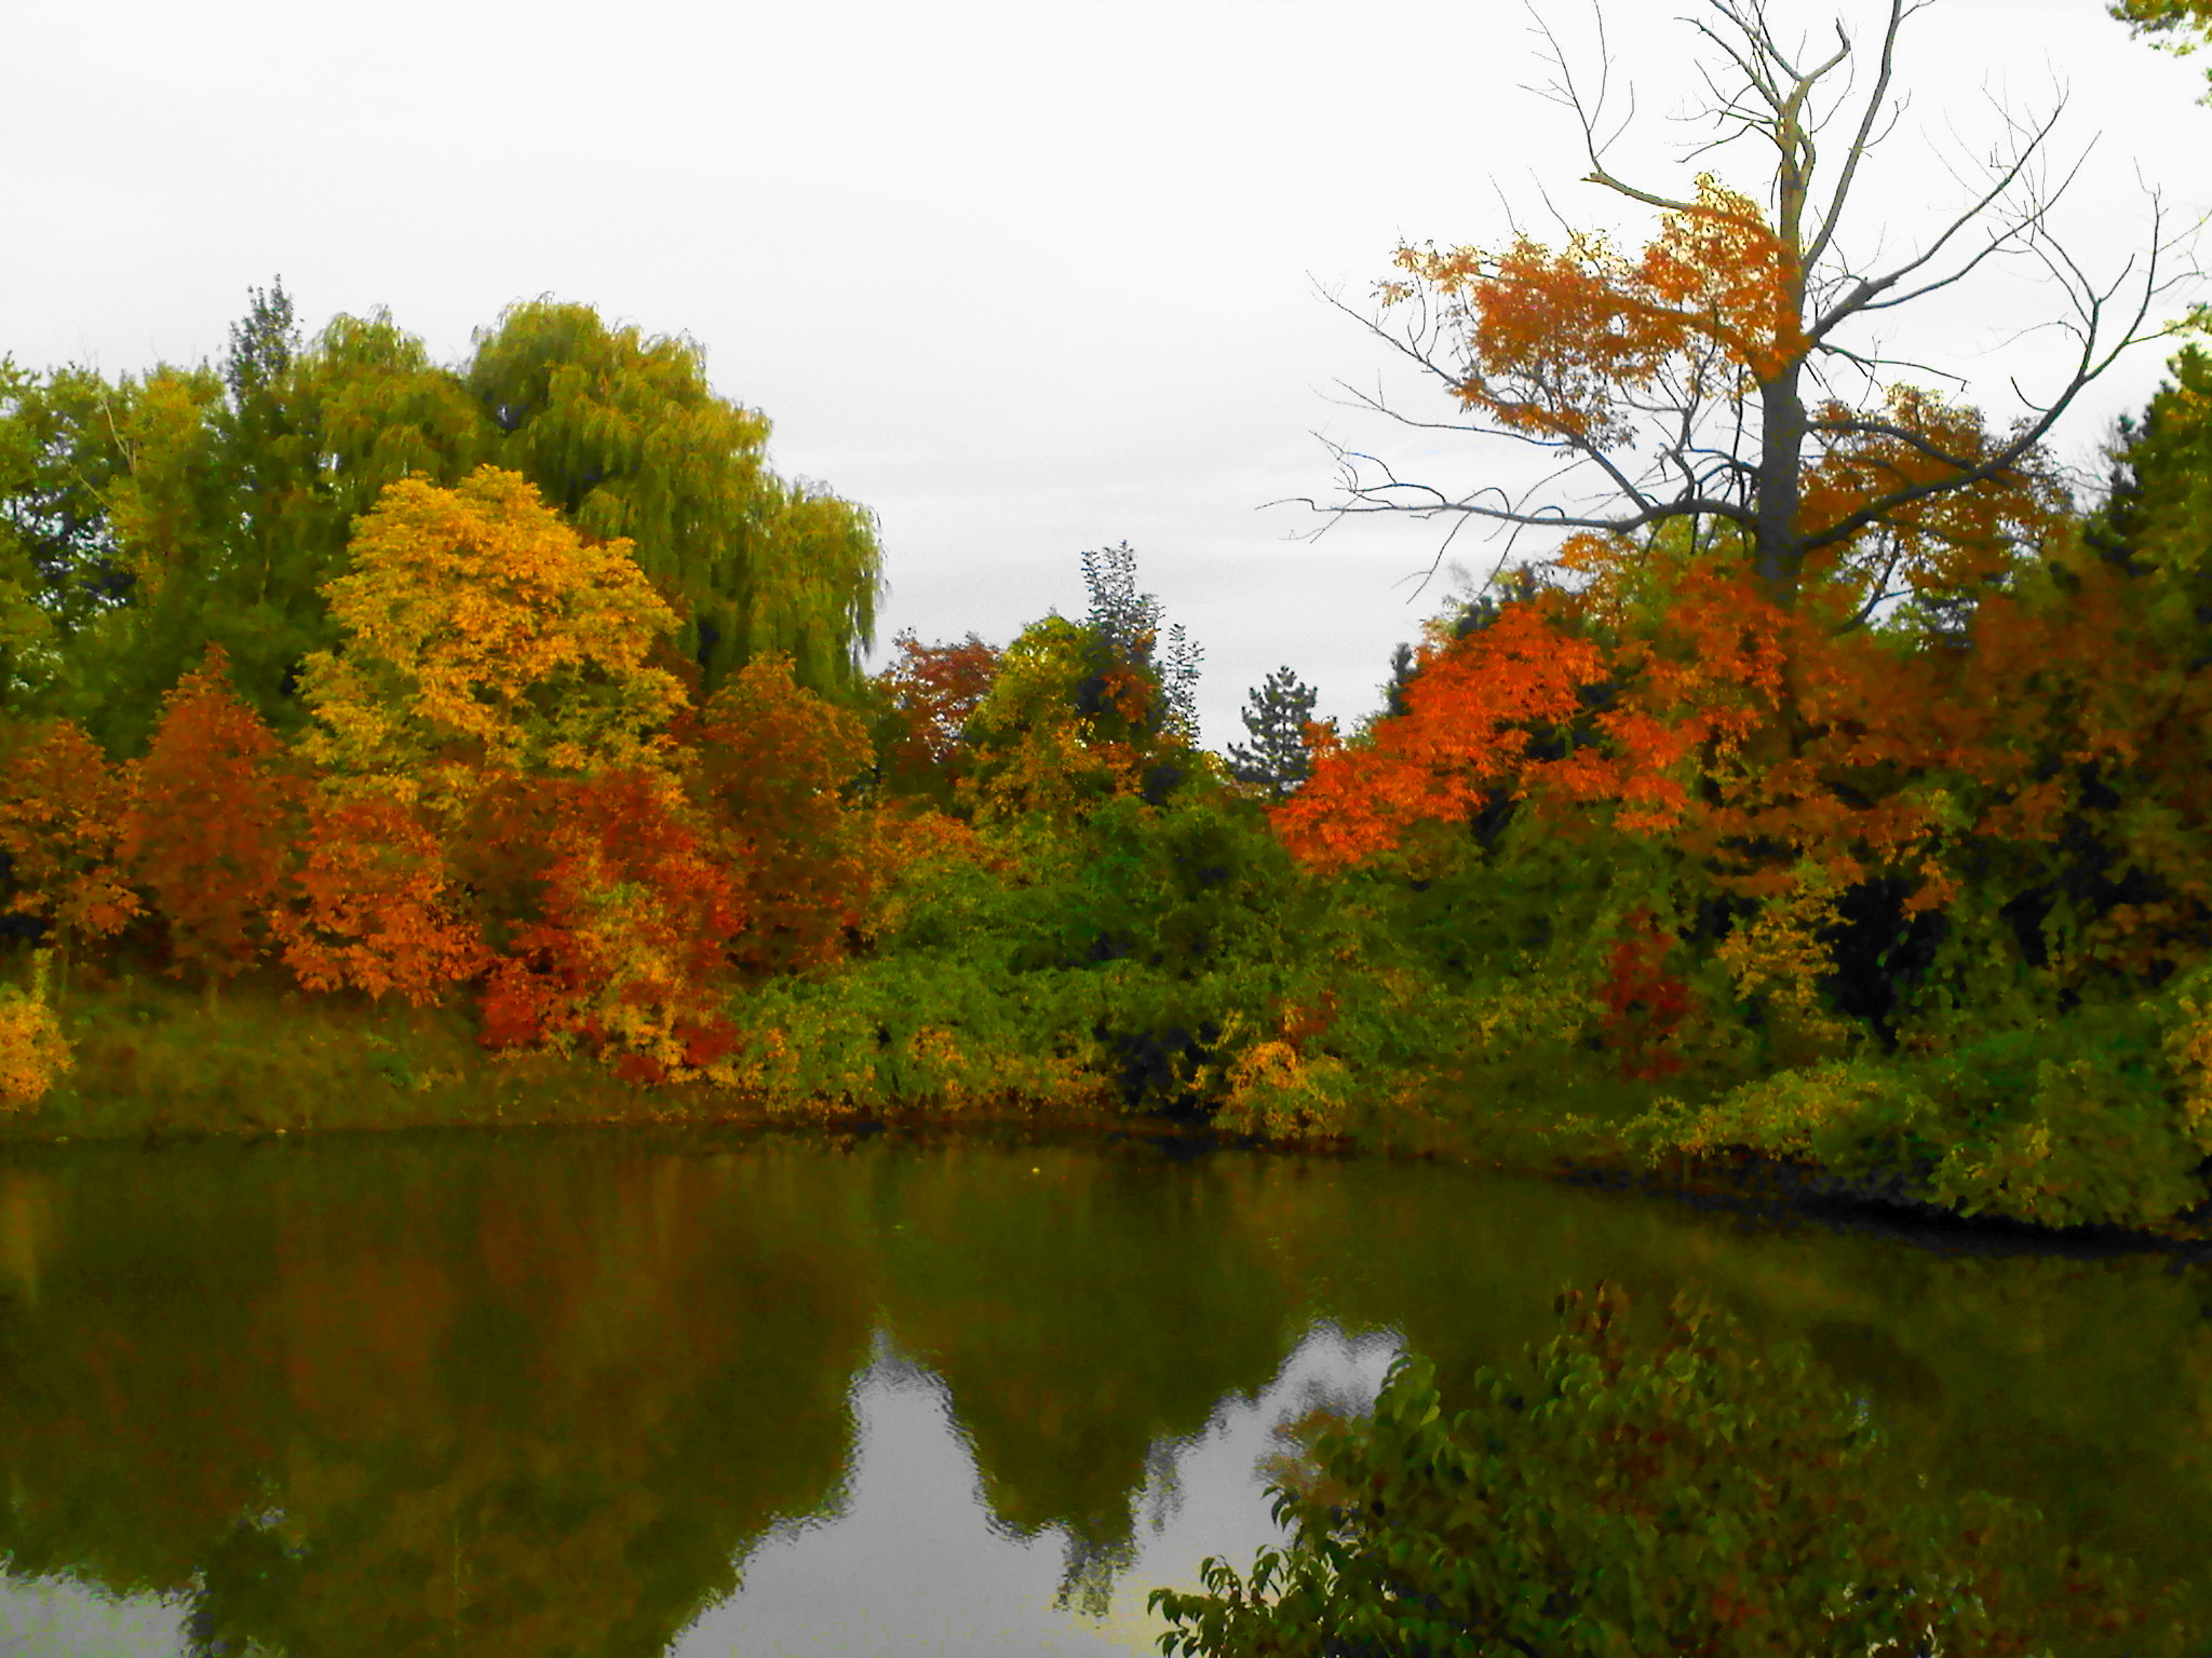
[[(1701, 889), (1677, 898), (1719, 891), (1745, 937), (1767, 928), (1803, 977), (1818, 951), (1798, 935), (1832, 937), (1838, 895), (1878, 884), (1891, 928), (1942, 904), (1958, 833), (2051, 760), (2006, 725), (2006, 703), (1971, 701), (1975, 619), (2073, 533), (2044, 440), (2121, 349), (2168, 332), (2154, 312), (2170, 243), (2152, 201), (2141, 259), (2112, 281), (2084, 274), (2037, 188), (2046, 119), (2015, 126), (2013, 153), (1922, 250), (1854, 263), (1838, 232), (1913, 11), (1889, 2), (1851, 111), (1827, 99), (1854, 57), (1843, 29), (1801, 60), (1747, 0), (1714, 0), (1697, 22), (1723, 53), (1708, 71), (1717, 130), (1772, 148), (1763, 199), (1714, 175), (1688, 195), (1619, 179), (1599, 139), (1604, 86), (1559, 53), (1555, 93), (1582, 122), (1588, 181), (1659, 214), (1641, 254), (1597, 234), (1400, 245), (1402, 276), (1380, 285), (1369, 327), (1464, 418), (1363, 402), (1535, 449), (1562, 493), (1449, 493), (1336, 449), (1347, 500), (1325, 511), (1566, 539), (1551, 584), (1429, 639), (1402, 716), (1349, 745), (1316, 734), (1314, 776), (1279, 811), (1303, 856), (1345, 864), (1420, 820), (1520, 805), (1597, 820), (1663, 840), (1674, 880)], [(1829, 122), (1840, 139), (1816, 146)], [(2066, 340), (2002, 431), (1885, 382), (1891, 365), (1851, 338), (1997, 254), (2039, 261)], [(1402, 336), (1391, 318), (1411, 318)], [(1747, 957), (1732, 970), (1823, 1024), (1805, 984), (1776, 986)]]

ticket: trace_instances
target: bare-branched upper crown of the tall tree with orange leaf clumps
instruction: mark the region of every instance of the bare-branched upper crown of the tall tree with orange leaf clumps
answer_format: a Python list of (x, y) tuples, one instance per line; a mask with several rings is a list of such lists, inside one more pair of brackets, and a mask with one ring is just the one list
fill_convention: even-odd
[[(1924, 531), (1922, 508), (1936, 497), (2020, 486), (2039, 469), (2044, 438), (2084, 387), (2128, 347), (2172, 332), (2154, 314), (2197, 274), (2177, 261), (2194, 225), (2174, 232), (2154, 190), (2146, 192), (2148, 234), (2117, 272), (2093, 276), (2057, 241), (2053, 208), (2081, 168), (2081, 157), (2051, 164), (2064, 97), (2042, 119), (2002, 113), (2004, 148), (1980, 179), (1962, 179), (1960, 212), (1916, 254), (1882, 270), (1845, 254), (1838, 232), (1860, 166), (1902, 113), (1893, 95), (1898, 35), (1933, 2), (1889, 0), (1871, 77), (1856, 102), (1849, 73), (1829, 95), (1832, 77), (1863, 57), (1843, 22), (1832, 46), (1807, 55), (1785, 49), (1765, 0), (1705, 0), (1683, 18), (1705, 53), (1699, 75), (1714, 137), (1699, 153), (1739, 139), (1770, 148), (1763, 206), (1710, 175), (1699, 177), (1692, 197), (1621, 179), (1606, 155), (1635, 111), (1630, 99), (1615, 119), (1604, 15), (1595, 84), (1577, 80), (1557, 35), (1537, 20), (1555, 73), (1542, 91), (1582, 128), (1586, 181), (1661, 210), (1672, 245), (1655, 243), (1661, 263), (1648, 252), (1641, 265), (1593, 237), (1571, 237), (1557, 254), (1526, 237), (1506, 252), (1400, 248), (1398, 263), (1413, 281), (1383, 283), (1374, 316), (1329, 301), (1451, 391), (1467, 418), (1413, 418), (1380, 393), (1345, 389), (1358, 407), (1407, 427), (1531, 444), (1557, 466), (1520, 493), (1491, 484), (1453, 495), (1323, 438), (1338, 462), (1343, 500), (1298, 500), (1332, 524), (1354, 513), (1447, 515), (1455, 520), (1451, 535), (1489, 522), (1509, 535), (1546, 528), (1626, 537), (1686, 520), (1692, 537), (1734, 537), (1765, 597), (1785, 608), (1796, 604), (1809, 564), (1818, 568), (1823, 555), (1849, 564), (1867, 584), (1856, 617), (1863, 621), (1891, 597), (1885, 588), (1898, 548), (1891, 542), (1880, 550), (1885, 531), (1916, 515)], [(1840, 133), (1840, 150), (1827, 155), (1832, 130)], [(1670, 287), (1670, 272), (1679, 276), (1683, 261), (1699, 256), (1710, 265), (1703, 287)], [(1882, 358), (1849, 336), (1854, 325), (1955, 287), (1997, 259), (2031, 261), (2048, 279), (2055, 314), (2044, 327), (2057, 329), (2066, 349), (2057, 382), (2039, 396), (2015, 382), (2026, 418), (1986, 436), (1978, 416), (1927, 420), (1920, 416), (1947, 407), (1940, 398), (1900, 398), (1885, 385), (1896, 369), (1958, 376)], [(1743, 279), (1761, 263), (1767, 285), (1752, 292)], [(1409, 321), (1391, 327), (1396, 316)], [(1553, 334), (1535, 338), (1546, 325)], [(1513, 327), (1533, 334), (1509, 340)], [(1807, 466), (1823, 455), (1856, 458), (1860, 475), (1878, 482), (1849, 511), (1809, 520)]]

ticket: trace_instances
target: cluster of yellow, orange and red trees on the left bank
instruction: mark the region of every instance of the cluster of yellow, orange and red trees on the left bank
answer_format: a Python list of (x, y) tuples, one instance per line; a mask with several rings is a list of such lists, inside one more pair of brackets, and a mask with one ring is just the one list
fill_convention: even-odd
[[(518, 475), (389, 486), (330, 599), (305, 800), (221, 652), (164, 705), (124, 853), (179, 959), (237, 970), (265, 928), (310, 990), (420, 1006), (480, 984), (487, 1046), (672, 1081), (728, 1052), (732, 975), (830, 962), (860, 922), (858, 716), (774, 657), (690, 710), (628, 544), (580, 537)], [(106, 798), (69, 741), (69, 787)]]

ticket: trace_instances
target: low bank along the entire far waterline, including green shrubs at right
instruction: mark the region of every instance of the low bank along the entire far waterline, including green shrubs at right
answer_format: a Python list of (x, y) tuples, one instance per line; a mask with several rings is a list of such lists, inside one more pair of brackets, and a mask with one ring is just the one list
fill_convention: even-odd
[[(816, 993), (856, 988), (830, 979)], [(1420, 1088), (1398, 1077), (1394, 1088), (1354, 1090), (1329, 1132), (1267, 1136), (1130, 1110), (1097, 1057), (1093, 1070), (1062, 1061), (1062, 1085), (1029, 1092), (940, 1085), (891, 1101), (874, 1079), (867, 1090), (794, 1092), (810, 1068), (754, 1088), (648, 1088), (580, 1054), (489, 1052), (462, 1006), (303, 995), (276, 970), (212, 999), (159, 975), (91, 973), (53, 999), (73, 1063), (35, 1105), (0, 1114), (0, 1141), (706, 1123), (1115, 1127), (1473, 1161), (1750, 1205), (2212, 1238), (2203, 1165), (2172, 1132), (2185, 1101), (2172, 1066), (2152, 1063), (2166, 1046), (2146, 1010), (2042, 1030), (2028, 1048), (1993, 1041), (1940, 1061), (1829, 1063), (1703, 1088), (1621, 1079), (1601, 1054), (1568, 1046), (1500, 1050)], [(865, 1012), (865, 997), (852, 1004)], [(927, 1026), (922, 1041), (931, 1046)], [(894, 1043), (883, 1052), (887, 1074), (907, 1066)], [(814, 1052), (816, 1066), (832, 1059)], [(2110, 1079), (2099, 1092), (2099, 1068), (2132, 1079), (2132, 1099)], [(1015, 1061), (984, 1059), (980, 1070), (1013, 1074)], [(2068, 1127), (2068, 1110), (2090, 1105), (2097, 1114)]]

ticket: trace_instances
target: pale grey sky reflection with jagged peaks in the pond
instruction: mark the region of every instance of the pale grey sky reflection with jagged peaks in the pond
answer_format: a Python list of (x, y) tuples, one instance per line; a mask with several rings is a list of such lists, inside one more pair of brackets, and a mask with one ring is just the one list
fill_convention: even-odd
[[(1130, 1499), (1135, 1552), (1084, 1563), (1071, 1559), (1057, 1528), (1018, 1536), (991, 1519), (945, 1386), (878, 1331), (876, 1362), (852, 1386), (854, 1452), (836, 1512), (770, 1532), (745, 1559), (743, 1589), (703, 1612), (670, 1651), (1157, 1651), (1159, 1623), (1146, 1614), (1146, 1594), (1199, 1587), (1208, 1554), (1243, 1570), (1261, 1543), (1281, 1539), (1259, 1470), (1281, 1448), (1276, 1426), (1316, 1404), (1365, 1408), (1396, 1355), (1396, 1337), (1347, 1340), (1334, 1324), (1316, 1324), (1256, 1399), (1232, 1393), (1203, 1433), (1155, 1446), (1146, 1483)], [(1099, 1592), (1104, 1616), (1091, 1616)], [(0, 1581), (0, 1658), (175, 1658), (184, 1616), (181, 1605), (155, 1596)]]

